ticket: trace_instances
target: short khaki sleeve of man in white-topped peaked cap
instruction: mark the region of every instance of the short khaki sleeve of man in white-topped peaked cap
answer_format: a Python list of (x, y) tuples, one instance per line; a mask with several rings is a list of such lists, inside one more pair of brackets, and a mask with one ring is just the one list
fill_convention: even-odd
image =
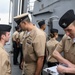
[(46, 37), (44, 35), (36, 36), (33, 45), (37, 57), (45, 55), (45, 43)]

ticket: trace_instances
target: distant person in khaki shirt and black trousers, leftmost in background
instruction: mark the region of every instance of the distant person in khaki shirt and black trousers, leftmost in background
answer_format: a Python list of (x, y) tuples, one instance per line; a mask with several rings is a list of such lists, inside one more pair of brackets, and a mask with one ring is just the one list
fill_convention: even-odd
[(12, 41), (13, 41), (13, 64), (17, 65), (18, 64), (18, 54), (19, 54), (19, 27), (15, 27), (16, 31), (12, 35)]

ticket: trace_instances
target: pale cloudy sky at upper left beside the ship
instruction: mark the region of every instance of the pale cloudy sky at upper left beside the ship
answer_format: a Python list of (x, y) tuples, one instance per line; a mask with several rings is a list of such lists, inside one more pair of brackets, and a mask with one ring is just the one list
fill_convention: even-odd
[(9, 20), (9, 2), (10, 0), (0, 0), (0, 23), (7, 24)]

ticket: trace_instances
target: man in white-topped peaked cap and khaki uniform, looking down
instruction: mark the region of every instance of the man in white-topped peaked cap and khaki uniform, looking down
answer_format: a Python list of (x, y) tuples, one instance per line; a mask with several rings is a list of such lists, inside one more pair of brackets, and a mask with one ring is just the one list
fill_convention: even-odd
[(27, 36), (23, 42), (25, 75), (40, 75), (45, 55), (46, 37), (31, 23), (28, 13), (14, 17), (14, 20), (23, 30), (27, 30)]

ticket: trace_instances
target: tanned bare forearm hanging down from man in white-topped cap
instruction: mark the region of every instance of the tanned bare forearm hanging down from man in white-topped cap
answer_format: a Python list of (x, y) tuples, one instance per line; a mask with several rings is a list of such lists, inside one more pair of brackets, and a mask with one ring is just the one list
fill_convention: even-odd
[(38, 57), (37, 64), (36, 64), (35, 75), (40, 75), (42, 67), (43, 67), (43, 61), (44, 61), (44, 56)]

